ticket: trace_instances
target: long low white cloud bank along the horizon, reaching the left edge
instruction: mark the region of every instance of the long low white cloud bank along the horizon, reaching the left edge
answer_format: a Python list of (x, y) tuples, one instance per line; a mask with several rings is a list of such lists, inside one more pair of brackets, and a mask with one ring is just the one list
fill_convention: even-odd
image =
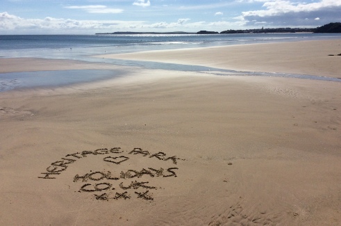
[(121, 20), (76, 20), (45, 17), (24, 19), (8, 13), (0, 13), (1, 34), (93, 34), (114, 31), (225, 31), (237, 29), (242, 22), (190, 22), (189, 18), (174, 22), (121, 21)]

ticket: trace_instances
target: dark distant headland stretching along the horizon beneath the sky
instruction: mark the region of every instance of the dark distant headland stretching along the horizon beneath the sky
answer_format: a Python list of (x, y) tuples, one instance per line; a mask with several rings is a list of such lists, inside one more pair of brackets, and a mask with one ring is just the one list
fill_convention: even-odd
[[(330, 23), (317, 28), (274, 28), (274, 29), (246, 29), (246, 30), (226, 30), (220, 32), (220, 34), (234, 34), (234, 33), (296, 33), (296, 32), (310, 32), (310, 33), (341, 33), (341, 23)], [(134, 31), (117, 31), (113, 33), (96, 33), (96, 35), (193, 35), (193, 34), (219, 34), (217, 31), (198, 31), (198, 32), (185, 32), (185, 31), (173, 31), (173, 32), (134, 32)]]

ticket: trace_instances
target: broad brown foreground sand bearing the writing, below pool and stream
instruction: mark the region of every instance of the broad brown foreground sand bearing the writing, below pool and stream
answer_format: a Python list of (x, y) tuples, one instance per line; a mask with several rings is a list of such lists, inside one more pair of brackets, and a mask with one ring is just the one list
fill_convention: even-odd
[(340, 82), (129, 73), (1, 92), (0, 225), (341, 224)]

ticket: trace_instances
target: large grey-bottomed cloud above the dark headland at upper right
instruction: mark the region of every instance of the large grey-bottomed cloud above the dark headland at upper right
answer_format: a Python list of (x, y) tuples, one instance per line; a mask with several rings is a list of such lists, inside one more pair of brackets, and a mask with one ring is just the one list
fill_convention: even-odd
[[(245, 25), (267, 22), (278, 26), (319, 26), (341, 20), (341, 1), (320, 0), (306, 3), (291, 0), (240, 0), (240, 2), (264, 2), (264, 10), (242, 12), (242, 15), (235, 17)], [(314, 19), (317, 17), (323, 19)]]

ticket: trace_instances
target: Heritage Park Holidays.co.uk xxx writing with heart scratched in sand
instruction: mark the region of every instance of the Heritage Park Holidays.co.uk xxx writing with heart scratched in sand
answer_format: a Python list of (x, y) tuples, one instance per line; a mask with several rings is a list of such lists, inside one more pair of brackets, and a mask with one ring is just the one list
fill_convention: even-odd
[[(110, 163), (113, 170), (103, 170), (86, 172), (85, 174), (74, 176), (74, 183), (81, 184), (78, 192), (91, 193), (96, 200), (127, 200), (132, 197), (152, 201), (152, 190), (160, 187), (149, 184), (148, 179), (153, 177), (169, 178), (177, 177), (178, 168), (169, 167), (184, 161), (177, 156), (167, 156), (164, 152), (151, 154), (135, 147), (130, 152), (122, 150), (120, 147), (97, 149), (94, 151), (83, 151), (67, 154), (60, 160), (55, 161), (47, 167), (46, 172), (41, 172), (40, 179), (57, 179), (58, 175), (67, 170), (70, 164), (75, 163), (88, 156), (103, 156), (103, 163)], [(165, 168), (147, 167), (139, 169), (126, 169), (120, 172), (115, 170), (115, 166), (121, 166), (129, 162), (131, 158), (148, 158), (156, 161), (163, 161)], [(123, 180), (123, 181), (122, 181)]]

